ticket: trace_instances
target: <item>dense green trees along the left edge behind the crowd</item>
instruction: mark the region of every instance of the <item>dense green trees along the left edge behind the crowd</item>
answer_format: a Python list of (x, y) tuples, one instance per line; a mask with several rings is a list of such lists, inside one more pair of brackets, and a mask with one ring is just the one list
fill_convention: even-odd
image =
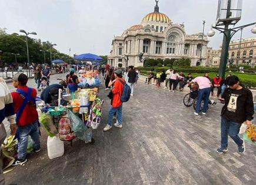
[[(50, 63), (50, 42), (41, 42), (40, 39), (28, 38), (28, 50), (29, 50), (29, 60), (31, 63), (44, 63), (44, 50), (46, 63)], [(27, 62), (27, 53), (26, 53), (26, 36), (18, 35), (18, 33), (7, 34), (5, 29), (0, 28), (0, 49), (1, 54), (1, 65), (12, 63), (15, 65), (15, 55), (12, 53), (19, 53), (17, 55), (17, 63), (25, 64)], [(58, 52), (55, 48), (51, 48), (52, 60), (62, 59), (65, 62), (68, 62), (69, 56), (65, 53)], [(55, 57), (54, 57), (54, 54)]]

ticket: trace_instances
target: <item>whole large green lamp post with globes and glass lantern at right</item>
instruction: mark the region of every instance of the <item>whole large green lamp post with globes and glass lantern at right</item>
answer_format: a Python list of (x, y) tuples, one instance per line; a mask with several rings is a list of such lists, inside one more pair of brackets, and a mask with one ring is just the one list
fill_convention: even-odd
[[(233, 2), (233, 4), (232, 4)], [(232, 12), (231, 12), (232, 11)], [(216, 26), (212, 26), (212, 28), (217, 29), (221, 33), (224, 33), (222, 40), (222, 49), (221, 49), (221, 61), (219, 73), (222, 78), (225, 78), (225, 70), (227, 66), (228, 60), (228, 47), (230, 45), (230, 41), (232, 36), (235, 35), (241, 29), (244, 29), (247, 26), (255, 25), (254, 23), (249, 23), (247, 25), (238, 26), (236, 28), (228, 28), (229, 25), (235, 25), (241, 19), (241, 11), (242, 11), (242, 0), (237, 0), (237, 3), (232, 0), (219, 0), (218, 4), (218, 13), (217, 13), (217, 23)], [(224, 26), (224, 28), (217, 27)], [(256, 33), (256, 26), (251, 29), (252, 33)], [(215, 35), (215, 31), (212, 29), (207, 33), (209, 37)]]

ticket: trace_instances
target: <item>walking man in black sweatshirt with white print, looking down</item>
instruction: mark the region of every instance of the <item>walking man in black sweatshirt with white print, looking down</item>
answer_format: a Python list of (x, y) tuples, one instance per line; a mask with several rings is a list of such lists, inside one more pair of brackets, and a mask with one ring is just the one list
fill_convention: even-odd
[(226, 81), (229, 88), (224, 91), (225, 105), (221, 110), (221, 147), (218, 153), (228, 151), (228, 135), (238, 145), (238, 152), (245, 152), (245, 144), (238, 136), (241, 124), (251, 125), (254, 115), (252, 92), (240, 85), (237, 76), (230, 76)]

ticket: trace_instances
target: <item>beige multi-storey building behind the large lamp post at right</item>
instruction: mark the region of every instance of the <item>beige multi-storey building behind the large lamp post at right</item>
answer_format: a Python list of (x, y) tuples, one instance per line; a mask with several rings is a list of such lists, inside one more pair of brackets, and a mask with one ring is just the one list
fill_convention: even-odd
[[(218, 52), (217, 52), (218, 51)], [(211, 60), (211, 52), (216, 52), (218, 56), (214, 56)], [(209, 48), (207, 50), (207, 61), (211, 63), (211, 66), (220, 65), (221, 49), (214, 50)], [(210, 60), (208, 60), (210, 58)], [(256, 37), (238, 39), (230, 42), (228, 49), (228, 65), (256, 65)]]

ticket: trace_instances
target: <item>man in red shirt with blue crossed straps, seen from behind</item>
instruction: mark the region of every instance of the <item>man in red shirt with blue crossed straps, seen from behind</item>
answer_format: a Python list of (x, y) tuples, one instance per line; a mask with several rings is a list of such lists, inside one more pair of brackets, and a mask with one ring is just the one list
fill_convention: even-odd
[(40, 152), (38, 113), (36, 111), (36, 90), (28, 88), (26, 83), (28, 76), (17, 73), (12, 79), (12, 85), (16, 92), (12, 92), (14, 111), (16, 113), (16, 124), (18, 126), (18, 154), (12, 166), (26, 163), (26, 149), (28, 147), (28, 135), (33, 140), (33, 147), (36, 153)]

